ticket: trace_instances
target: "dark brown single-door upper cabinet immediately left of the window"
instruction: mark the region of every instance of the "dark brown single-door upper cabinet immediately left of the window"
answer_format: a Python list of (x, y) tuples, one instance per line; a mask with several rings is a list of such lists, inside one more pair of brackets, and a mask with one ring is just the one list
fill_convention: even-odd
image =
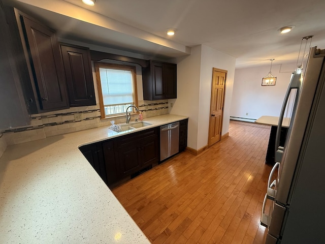
[(89, 48), (60, 43), (71, 107), (96, 105)]

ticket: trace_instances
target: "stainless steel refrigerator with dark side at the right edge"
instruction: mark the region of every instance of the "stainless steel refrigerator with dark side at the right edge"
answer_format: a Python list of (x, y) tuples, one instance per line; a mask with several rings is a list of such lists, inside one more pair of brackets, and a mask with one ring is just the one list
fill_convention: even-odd
[(324, 56), (310, 48), (284, 147), (276, 145), (261, 216), (267, 244), (325, 243)]

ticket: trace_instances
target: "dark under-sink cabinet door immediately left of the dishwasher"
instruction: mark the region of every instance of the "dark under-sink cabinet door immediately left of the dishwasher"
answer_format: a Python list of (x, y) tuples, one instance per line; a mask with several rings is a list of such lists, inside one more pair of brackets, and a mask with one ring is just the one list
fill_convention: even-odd
[(159, 161), (158, 140), (156, 136), (143, 138), (139, 147), (142, 167), (157, 163)]

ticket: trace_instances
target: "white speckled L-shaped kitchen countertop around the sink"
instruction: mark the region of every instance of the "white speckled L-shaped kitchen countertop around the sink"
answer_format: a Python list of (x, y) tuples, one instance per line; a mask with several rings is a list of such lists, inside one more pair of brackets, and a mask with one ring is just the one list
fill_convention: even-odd
[[(146, 118), (145, 130), (187, 118)], [(150, 243), (78, 146), (107, 127), (8, 146), (0, 159), (0, 243)]]

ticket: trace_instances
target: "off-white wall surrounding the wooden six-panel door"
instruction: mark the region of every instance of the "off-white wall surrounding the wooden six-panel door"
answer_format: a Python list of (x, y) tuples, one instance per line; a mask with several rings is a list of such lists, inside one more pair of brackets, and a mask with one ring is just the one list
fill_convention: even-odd
[(200, 149), (208, 144), (212, 68), (228, 71), (222, 135), (229, 130), (235, 58), (207, 46), (192, 47), (191, 55), (177, 62), (177, 99), (170, 113), (189, 116), (187, 146)]

